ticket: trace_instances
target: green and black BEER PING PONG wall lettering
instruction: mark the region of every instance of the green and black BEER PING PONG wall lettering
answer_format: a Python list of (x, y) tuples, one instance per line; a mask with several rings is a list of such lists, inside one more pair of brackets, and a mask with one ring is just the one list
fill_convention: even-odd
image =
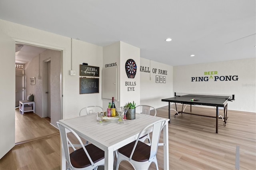
[(218, 75), (218, 71), (204, 71), (204, 75), (201, 77), (191, 77), (191, 81), (238, 81), (238, 75)]

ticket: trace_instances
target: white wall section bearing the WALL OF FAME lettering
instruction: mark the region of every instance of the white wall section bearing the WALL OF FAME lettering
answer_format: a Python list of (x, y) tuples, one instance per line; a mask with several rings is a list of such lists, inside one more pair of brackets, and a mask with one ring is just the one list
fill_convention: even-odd
[[(143, 68), (142, 68), (143, 67)], [(173, 67), (156, 61), (140, 58), (140, 104), (155, 108), (168, 105), (161, 99), (173, 96)], [(156, 81), (156, 76), (165, 81)]]

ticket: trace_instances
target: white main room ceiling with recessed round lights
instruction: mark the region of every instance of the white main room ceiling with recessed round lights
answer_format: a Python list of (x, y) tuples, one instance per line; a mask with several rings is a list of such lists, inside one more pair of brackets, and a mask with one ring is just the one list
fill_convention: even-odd
[(0, 0), (0, 19), (173, 66), (256, 57), (255, 0)]

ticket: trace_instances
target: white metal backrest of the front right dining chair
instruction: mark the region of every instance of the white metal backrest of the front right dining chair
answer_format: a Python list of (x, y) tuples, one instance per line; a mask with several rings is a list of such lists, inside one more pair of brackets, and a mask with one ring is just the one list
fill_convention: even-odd
[(132, 153), (130, 155), (130, 160), (132, 159), (132, 155), (134, 153), (134, 150), (138, 144), (138, 141), (140, 140), (140, 136), (143, 136), (145, 132), (147, 132), (147, 130), (149, 128), (152, 128), (153, 127), (153, 131), (152, 131), (152, 138), (151, 138), (151, 144), (148, 144), (150, 145), (150, 157), (149, 157), (149, 161), (154, 158), (154, 156), (156, 156), (156, 152), (157, 152), (157, 148), (158, 148), (158, 142), (159, 142), (159, 138), (160, 138), (160, 132), (161, 130), (163, 129), (164, 125), (166, 124), (166, 120), (164, 119), (161, 119), (161, 120), (158, 120), (154, 123), (151, 123), (150, 125), (144, 127), (141, 131), (140, 131), (140, 134), (134, 144), (134, 147), (132, 149)]

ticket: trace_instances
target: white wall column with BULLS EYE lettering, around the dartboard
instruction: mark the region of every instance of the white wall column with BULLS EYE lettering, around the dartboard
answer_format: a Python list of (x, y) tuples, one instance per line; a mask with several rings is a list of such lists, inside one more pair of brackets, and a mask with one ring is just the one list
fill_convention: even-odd
[[(125, 105), (127, 102), (140, 103), (140, 49), (133, 45), (116, 42), (103, 47), (103, 65), (104, 67), (118, 67), (118, 101), (115, 102), (116, 107)], [(128, 78), (126, 75), (125, 63), (128, 59), (133, 59), (137, 65), (137, 71), (134, 78)], [(111, 64), (112, 65), (106, 65)], [(112, 76), (112, 75), (109, 75)], [(103, 101), (103, 108), (106, 109), (109, 100)]]

